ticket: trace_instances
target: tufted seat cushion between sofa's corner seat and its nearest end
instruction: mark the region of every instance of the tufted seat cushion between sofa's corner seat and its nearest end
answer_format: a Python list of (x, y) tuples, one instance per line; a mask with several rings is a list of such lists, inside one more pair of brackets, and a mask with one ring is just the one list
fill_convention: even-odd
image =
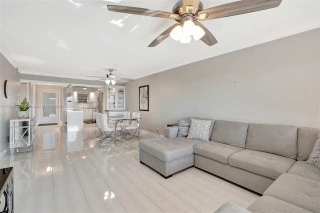
[(284, 173), (273, 181), (263, 195), (281, 199), (312, 212), (320, 212), (320, 181)]

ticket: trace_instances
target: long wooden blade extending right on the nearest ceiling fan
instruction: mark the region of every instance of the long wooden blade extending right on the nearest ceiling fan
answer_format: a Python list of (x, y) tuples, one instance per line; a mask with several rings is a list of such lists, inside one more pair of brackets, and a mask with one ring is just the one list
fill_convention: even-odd
[(277, 7), (280, 3), (281, 0), (239, 0), (203, 9), (198, 12), (198, 18), (200, 20), (209, 20), (231, 15), (238, 15)]

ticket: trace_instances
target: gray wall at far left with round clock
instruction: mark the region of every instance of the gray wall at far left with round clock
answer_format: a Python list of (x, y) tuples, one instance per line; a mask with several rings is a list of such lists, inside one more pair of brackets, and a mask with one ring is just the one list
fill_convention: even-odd
[[(4, 97), (4, 81), (10, 82), (9, 98)], [(9, 120), (16, 117), (16, 108), (8, 108), (7, 105), (18, 103), (20, 90), (20, 74), (10, 62), (0, 53), (0, 152), (9, 145)]]

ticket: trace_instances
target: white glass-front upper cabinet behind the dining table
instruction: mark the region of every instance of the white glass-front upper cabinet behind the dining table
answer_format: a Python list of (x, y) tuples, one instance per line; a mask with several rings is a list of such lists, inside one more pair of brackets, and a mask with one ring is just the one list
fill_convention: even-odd
[(106, 87), (106, 109), (125, 109), (125, 86)]

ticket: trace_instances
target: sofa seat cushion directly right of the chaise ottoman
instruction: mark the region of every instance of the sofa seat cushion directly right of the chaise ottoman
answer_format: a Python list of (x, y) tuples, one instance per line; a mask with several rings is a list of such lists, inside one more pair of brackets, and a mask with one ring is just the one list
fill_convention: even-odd
[(198, 143), (193, 146), (195, 154), (223, 163), (228, 163), (228, 156), (240, 150), (243, 150), (243, 148), (213, 141)]

